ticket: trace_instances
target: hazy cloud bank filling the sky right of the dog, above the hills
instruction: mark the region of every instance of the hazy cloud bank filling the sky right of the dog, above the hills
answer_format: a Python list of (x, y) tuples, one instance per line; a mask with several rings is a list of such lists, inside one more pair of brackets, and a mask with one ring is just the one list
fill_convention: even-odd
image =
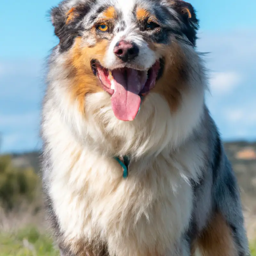
[(224, 139), (256, 139), (256, 31), (200, 33), (209, 70), (207, 105)]

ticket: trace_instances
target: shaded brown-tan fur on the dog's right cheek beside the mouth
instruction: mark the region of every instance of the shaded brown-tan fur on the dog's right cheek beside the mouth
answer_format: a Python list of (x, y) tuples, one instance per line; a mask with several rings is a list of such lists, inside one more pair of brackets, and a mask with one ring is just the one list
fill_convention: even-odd
[(186, 68), (185, 56), (179, 45), (173, 41), (171, 45), (157, 45), (165, 54), (164, 74), (156, 82), (156, 87), (152, 92), (158, 92), (167, 100), (172, 112), (180, 106), (181, 95), (186, 90), (185, 79), (182, 70)]

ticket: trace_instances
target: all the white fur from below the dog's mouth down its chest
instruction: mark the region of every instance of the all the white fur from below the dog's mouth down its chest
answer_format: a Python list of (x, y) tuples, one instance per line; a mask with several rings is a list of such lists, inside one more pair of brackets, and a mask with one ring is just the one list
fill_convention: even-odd
[[(203, 155), (189, 142), (171, 155), (168, 144), (179, 143), (196, 124), (198, 95), (190, 95), (177, 116), (171, 116), (164, 98), (151, 93), (136, 119), (123, 122), (114, 116), (105, 92), (87, 97), (87, 121), (63, 92), (56, 92), (62, 93), (65, 119), (49, 106), (43, 130), (53, 159), (49, 193), (66, 239), (100, 237), (108, 242), (110, 255), (139, 256), (172, 248), (188, 225), (193, 203), (188, 178), (200, 173)], [(68, 123), (84, 141), (78, 143)], [(117, 150), (111, 145), (115, 137), (123, 141), (116, 153), (131, 150), (140, 157), (131, 163), (126, 180), (108, 155)]]

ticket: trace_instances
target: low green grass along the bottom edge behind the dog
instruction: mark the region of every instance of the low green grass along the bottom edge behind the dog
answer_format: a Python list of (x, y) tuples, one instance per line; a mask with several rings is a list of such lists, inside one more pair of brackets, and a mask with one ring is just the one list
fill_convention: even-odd
[[(50, 236), (36, 228), (25, 228), (15, 233), (0, 233), (0, 256), (59, 256)], [(251, 246), (251, 256), (256, 256), (256, 243)]]

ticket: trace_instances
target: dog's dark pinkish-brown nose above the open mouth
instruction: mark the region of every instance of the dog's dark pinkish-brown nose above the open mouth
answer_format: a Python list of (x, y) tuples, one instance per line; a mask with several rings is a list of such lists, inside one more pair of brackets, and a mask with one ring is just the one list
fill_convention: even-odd
[(116, 44), (114, 48), (114, 53), (119, 59), (127, 62), (129, 60), (133, 60), (135, 57), (138, 56), (139, 47), (134, 43), (129, 43), (122, 40)]

